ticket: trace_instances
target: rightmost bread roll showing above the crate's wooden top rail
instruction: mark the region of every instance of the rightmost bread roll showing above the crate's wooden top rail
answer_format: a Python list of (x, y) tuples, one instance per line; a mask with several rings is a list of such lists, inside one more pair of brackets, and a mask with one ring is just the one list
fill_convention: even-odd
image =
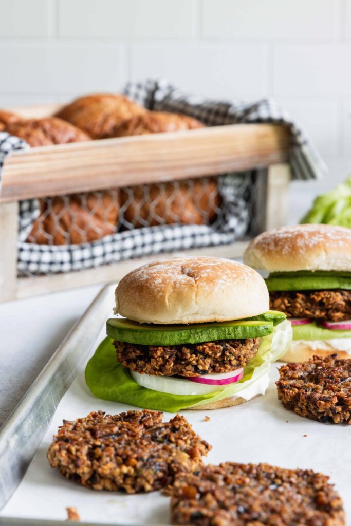
[(203, 128), (204, 126), (199, 120), (188, 117), (187, 115), (167, 112), (148, 112), (143, 115), (136, 115), (115, 126), (111, 132), (111, 136), (145, 135), (162, 133), (164, 131)]

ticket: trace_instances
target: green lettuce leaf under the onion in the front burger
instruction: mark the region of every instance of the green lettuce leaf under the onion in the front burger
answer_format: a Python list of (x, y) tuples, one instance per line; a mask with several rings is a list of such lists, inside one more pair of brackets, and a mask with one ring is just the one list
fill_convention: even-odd
[(207, 395), (169, 395), (139, 386), (129, 375), (128, 369), (116, 360), (113, 340), (105, 338), (88, 361), (85, 381), (93, 395), (104, 400), (114, 400), (144, 409), (177, 412), (207, 402), (216, 402), (235, 395), (270, 371), (270, 345), (273, 335), (262, 338), (255, 358), (244, 368), (244, 377), (237, 383)]

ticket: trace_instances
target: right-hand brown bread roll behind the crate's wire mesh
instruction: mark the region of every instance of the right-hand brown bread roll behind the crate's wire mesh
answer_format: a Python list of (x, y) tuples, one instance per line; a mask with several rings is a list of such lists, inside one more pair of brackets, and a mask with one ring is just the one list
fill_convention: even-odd
[(178, 185), (165, 183), (121, 189), (123, 217), (135, 228), (213, 222), (221, 204), (216, 179), (196, 179), (193, 184), (179, 181)]

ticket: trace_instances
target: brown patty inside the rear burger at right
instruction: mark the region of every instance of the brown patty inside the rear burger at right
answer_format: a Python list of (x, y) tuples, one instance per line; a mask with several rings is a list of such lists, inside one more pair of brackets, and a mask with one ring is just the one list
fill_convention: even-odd
[(343, 321), (351, 318), (351, 290), (269, 292), (270, 308), (292, 318)]

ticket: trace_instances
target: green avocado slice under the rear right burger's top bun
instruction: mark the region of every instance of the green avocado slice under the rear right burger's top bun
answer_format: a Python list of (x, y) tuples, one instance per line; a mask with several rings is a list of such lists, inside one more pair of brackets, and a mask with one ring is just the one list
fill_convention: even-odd
[(273, 272), (265, 280), (268, 290), (351, 290), (351, 272)]

